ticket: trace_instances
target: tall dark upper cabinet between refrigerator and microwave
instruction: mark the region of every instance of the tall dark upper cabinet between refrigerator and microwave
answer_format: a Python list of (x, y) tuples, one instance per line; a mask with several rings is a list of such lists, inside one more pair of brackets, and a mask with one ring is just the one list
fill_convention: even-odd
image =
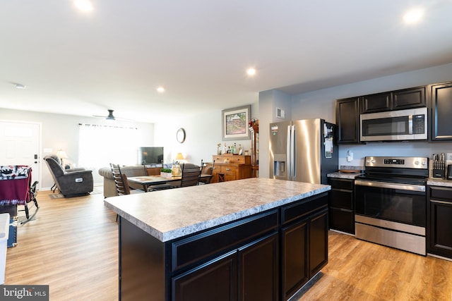
[(359, 143), (359, 97), (336, 102), (336, 125), (338, 144)]

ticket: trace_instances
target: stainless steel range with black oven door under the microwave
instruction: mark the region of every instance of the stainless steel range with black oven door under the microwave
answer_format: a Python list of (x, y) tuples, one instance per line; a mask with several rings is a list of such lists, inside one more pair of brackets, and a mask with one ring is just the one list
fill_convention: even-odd
[(426, 255), (429, 159), (367, 156), (355, 180), (355, 236)]

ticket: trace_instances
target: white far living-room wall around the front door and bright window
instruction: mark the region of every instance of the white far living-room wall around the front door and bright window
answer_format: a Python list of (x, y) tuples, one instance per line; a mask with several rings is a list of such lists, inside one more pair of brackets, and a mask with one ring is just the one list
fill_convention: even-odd
[[(64, 163), (78, 164), (78, 123), (104, 124), (100, 118), (90, 118), (83, 116), (72, 116), (54, 113), (40, 113), (31, 111), (20, 111), (10, 109), (0, 109), (0, 120), (3, 121), (27, 121), (42, 124), (42, 143), (40, 149), (40, 189), (46, 190), (54, 184), (52, 176), (49, 173), (47, 165), (42, 158), (47, 154), (56, 154), (59, 149), (64, 149), (69, 156)], [(153, 123), (121, 123), (115, 121), (118, 125), (131, 125), (138, 128), (143, 146), (153, 146), (154, 143), (154, 125)], [(121, 137), (118, 137), (120, 143)], [(44, 152), (44, 150), (50, 152)], [(95, 152), (95, 149), (93, 149)], [(1, 162), (0, 162), (1, 165)], [(105, 166), (107, 167), (107, 166)], [(102, 184), (103, 178), (98, 171), (93, 171), (93, 180), (95, 185)]]

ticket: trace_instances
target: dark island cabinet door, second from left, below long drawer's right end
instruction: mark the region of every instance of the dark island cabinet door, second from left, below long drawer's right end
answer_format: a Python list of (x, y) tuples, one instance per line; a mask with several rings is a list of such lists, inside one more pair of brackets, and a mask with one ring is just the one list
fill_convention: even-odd
[(242, 247), (238, 258), (239, 300), (278, 300), (278, 233)]

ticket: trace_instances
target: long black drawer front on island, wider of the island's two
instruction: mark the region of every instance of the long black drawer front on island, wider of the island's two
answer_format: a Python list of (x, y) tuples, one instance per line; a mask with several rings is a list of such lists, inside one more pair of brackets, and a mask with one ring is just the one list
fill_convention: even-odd
[(234, 247), (240, 247), (248, 240), (276, 228), (278, 228), (278, 210), (272, 210), (173, 242), (172, 271), (209, 259)]

